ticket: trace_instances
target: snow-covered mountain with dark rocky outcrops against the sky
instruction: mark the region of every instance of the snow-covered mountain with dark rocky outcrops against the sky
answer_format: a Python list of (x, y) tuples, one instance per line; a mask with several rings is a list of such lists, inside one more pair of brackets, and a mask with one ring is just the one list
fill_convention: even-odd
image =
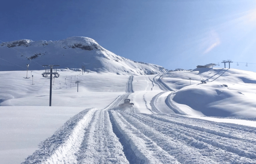
[(72, 36), (58, 41), (22, 39), (0, 44), (0, 71), (42, 70), (42, 65), (60, 65), (60, 68), (81, 68), (97, 72), (116, 74), (157, 74), (165, 68), (136, 62), (114, 54), (100, 46), (95, 40)]

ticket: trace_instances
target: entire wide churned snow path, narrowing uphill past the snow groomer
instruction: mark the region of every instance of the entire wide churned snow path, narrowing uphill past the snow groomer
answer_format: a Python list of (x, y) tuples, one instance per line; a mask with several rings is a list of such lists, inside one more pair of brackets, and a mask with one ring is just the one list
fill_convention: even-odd
[(256, 163), (256, 130), (179, 114), (142, 114), (118, 108), (132, 90), (105, 109), (70, 118), (23, 164)]

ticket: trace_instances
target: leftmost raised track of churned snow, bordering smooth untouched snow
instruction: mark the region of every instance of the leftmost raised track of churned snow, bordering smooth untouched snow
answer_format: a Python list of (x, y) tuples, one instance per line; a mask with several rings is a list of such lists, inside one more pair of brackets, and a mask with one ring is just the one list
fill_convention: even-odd
[(76, 163), (75, 153), (79, 150), (86, 128), (97, 109), (85, 109), (70, 118), (52, 137), (41, 142), (39, 149), (22, 164)]

